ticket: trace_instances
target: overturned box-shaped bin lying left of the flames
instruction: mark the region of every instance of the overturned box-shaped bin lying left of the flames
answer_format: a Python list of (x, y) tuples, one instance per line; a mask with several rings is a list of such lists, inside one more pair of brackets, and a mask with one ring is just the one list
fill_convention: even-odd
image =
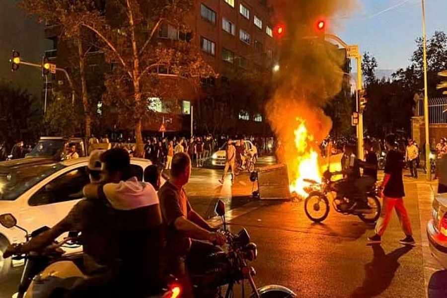
[(261, 200), (291, 200), (287, 165), (259, 168), (258, 191)]

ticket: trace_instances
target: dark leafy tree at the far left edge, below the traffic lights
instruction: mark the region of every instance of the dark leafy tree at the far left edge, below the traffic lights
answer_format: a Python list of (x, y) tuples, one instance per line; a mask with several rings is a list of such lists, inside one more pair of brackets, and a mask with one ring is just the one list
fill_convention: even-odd
[(35, 139), (42, 125), (42, 105), (26, 90), (0, 81), (0, 142), (8, 146), (23, 139)]

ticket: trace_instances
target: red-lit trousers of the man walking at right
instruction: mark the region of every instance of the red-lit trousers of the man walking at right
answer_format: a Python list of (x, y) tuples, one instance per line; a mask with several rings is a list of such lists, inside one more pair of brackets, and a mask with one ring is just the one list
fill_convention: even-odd
[(386, 226), (391, 220), (393, 209), (396, 209), (397, 217), (399, 218), (400, 225), (402, 226), (405, 235), (412, 236), (413, 232), (411, 230), (410, 218), (408, 217), (402, 198), (383, 198), (382, 211), (380, 212), (380, 218), (375, 225), (375, 233), (380, 236), (383, 235)]

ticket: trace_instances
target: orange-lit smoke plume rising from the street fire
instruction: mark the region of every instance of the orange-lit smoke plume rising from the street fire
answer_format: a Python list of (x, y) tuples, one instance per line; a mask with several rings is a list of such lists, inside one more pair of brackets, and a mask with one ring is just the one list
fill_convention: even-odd
[[(338, 24), (333, 20), (351, 11), (355, 0), (272, 0), (272, 4), (285, 36), (279, 41), (280, 69), (274, 74), (276, 90), (266, 114), (295, 179), (299, 155), (312, 148), (317, 151), (316, 142), (331, 130), (332, 122), (322, 108), (341, 91), (344, 77), (345, 60), (337, 46), (315, 38), (317, 20), (325, 20), (326, 33), (334, 33)], [(295, 130), (301, 123), (308, 136), (305, 148), (299, 149)]]

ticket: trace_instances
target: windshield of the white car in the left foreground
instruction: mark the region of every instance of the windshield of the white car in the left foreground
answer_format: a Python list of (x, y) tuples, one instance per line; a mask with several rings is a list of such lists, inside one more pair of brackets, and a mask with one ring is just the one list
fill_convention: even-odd
[(25, 191), (59, 171), (61, 163), (12, 168), (0, 166), (0, 201), (13, 201)]

